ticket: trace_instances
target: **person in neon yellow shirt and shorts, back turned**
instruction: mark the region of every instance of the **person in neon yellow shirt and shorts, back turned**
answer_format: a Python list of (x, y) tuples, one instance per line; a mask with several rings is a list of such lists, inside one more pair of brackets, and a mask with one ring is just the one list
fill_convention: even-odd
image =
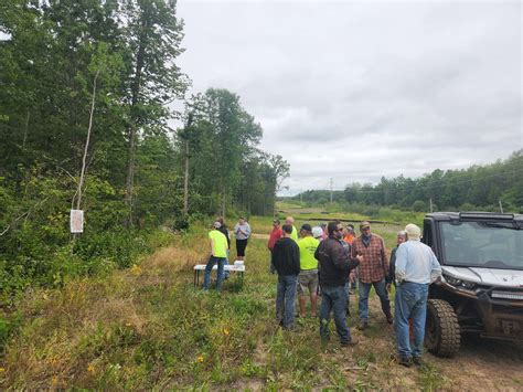
[(320, 242), (312, 236), (312, 227), (306, 223), (300, 229), (301, 239), (298, 241), (300, 248), (300, 274), (298, 275), (298, 295), (300, 317), (306, 317), (307, 292), (310, 296), (310, 315), (316, 317), (318, 304), (318, 261), (314, 252)]

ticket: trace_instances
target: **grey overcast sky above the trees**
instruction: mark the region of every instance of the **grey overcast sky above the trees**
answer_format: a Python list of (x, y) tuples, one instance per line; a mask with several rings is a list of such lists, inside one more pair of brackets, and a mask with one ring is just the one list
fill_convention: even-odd
[(241, 96), (290, 194), (523, 148), (519, 1), (181, 0), (179, 15), (191, 92)]

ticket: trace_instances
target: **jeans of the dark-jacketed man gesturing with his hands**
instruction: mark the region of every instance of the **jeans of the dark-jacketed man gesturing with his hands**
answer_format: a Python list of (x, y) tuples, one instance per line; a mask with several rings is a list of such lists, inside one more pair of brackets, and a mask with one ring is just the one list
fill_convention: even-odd
[(320, 337), (329, 338), (329, 321), (331, 310), (334, 314), (334, 324), (340, 341), (348, 343), (352, 340), (351, 331), (346, 326), (346, 306), (349, 297), (346, 286), (321, 286)]

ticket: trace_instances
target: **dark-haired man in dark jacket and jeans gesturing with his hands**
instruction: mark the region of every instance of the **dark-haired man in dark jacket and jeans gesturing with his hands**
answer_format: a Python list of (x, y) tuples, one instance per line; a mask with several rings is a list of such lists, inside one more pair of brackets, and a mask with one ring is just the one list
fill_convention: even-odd
[(334, 324), (342, 346), (356, 343), (346, 326), (346, 290), (349, 273), (363, 259), (362, 256), (350, 258), (349, 244), (342, 241), (343, 226), (339, 222), (329, 222), (327, 226), (329, 237), (323, 240), (316, 250), (314, 257), (320, 264), (321, 311), (320, 337), (329, 339), (329, 321), (331, 310), (334, 314)]

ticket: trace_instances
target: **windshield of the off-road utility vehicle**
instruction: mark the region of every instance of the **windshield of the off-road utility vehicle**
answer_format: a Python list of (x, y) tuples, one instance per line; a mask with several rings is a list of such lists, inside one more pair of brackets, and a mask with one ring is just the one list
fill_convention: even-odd
[(523, 230), (512, 223), (441, 222), (444, 264), (523, 269)]

